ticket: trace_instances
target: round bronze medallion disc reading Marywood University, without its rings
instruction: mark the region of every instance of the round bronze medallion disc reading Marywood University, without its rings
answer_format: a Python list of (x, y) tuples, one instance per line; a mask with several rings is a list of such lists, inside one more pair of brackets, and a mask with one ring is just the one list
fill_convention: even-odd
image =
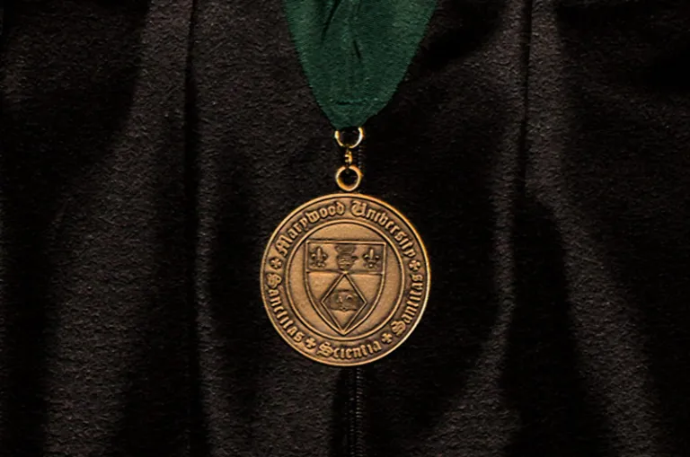
[(429, 259), (394, 207), (332, 194), (298, 207), (261, 261), (270, 321), (298, 352), (327, 365), (390, 354), (417, 326), (429, 297)]

